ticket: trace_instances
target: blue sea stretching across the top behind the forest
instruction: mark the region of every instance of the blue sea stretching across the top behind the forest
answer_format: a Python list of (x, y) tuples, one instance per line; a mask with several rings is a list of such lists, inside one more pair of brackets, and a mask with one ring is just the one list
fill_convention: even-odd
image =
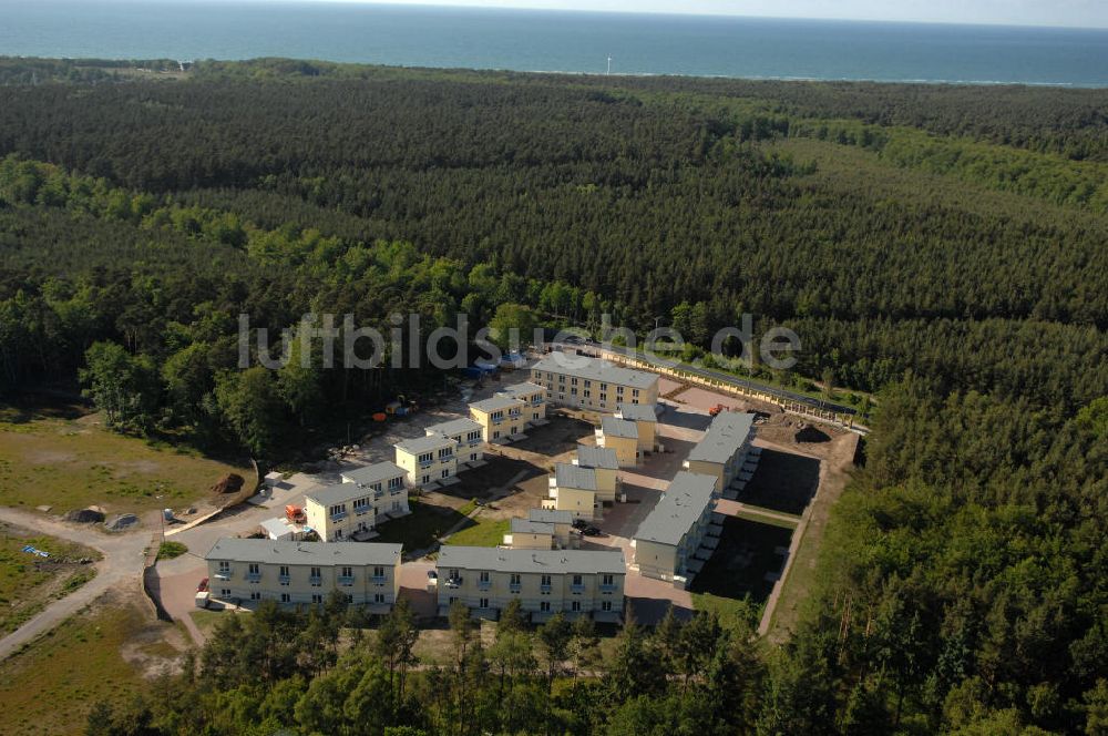
[(0, 0), (0, 55), (1108, 88), (1108, 29), (286, 0)]

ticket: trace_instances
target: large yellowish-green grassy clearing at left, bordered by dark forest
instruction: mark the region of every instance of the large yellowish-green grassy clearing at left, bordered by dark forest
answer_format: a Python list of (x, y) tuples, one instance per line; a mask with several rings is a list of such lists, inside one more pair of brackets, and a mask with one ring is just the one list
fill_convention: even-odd
[(247, 471), (191, 449), (115, 435), (92, 415), (0, 411), (0, 505), (142, 512), (201, 499), (230, 472)]

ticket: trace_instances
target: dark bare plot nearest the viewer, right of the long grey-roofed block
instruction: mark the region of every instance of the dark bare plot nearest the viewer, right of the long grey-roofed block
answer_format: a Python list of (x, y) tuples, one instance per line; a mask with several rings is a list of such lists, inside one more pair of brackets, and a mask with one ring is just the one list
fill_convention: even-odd
[(758, 610), (773, 590), (769, 573), (781, 571), (784, 559), (777, 548), (788, 548), (792, 530), (728, 517), (724, 535), (711, 559), (693, 579), (693, 604), (721, 616), (742, 615), (743, 599)]

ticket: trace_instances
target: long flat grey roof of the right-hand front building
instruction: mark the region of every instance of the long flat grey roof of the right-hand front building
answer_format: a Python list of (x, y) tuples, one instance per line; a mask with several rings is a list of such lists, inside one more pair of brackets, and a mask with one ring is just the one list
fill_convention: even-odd
[(623, 550), (504, 550), (495, 546), (452, 546), (439, 549), (442, 570), (489, 570), (519, 573), (613, 573), (624, 574), (627, 565)]

